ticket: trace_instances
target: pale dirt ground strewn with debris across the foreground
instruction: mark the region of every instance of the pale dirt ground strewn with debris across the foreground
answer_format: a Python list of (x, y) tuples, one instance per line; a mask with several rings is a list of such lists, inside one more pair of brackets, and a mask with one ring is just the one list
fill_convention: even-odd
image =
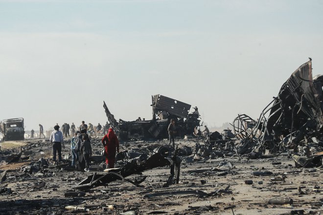
[[(120, 151), (144, 148), (157, 142), (121, 144)], [(166, 141), (158, 142), (165, 144)], [(179, 184), (163, 188), (170, 175), (169, 167), (155, 168), (142, 172), (147, 178), (136, 187), (125, 181), (114, 181), (108, 185), (87, 190), (85, 196), (65, 197), (65, 192), (74, 191), (78, 184), (94, 172), (103, 173), (100, 164), (93, 164), (90, 172), (69, 170), (66, 166), (56, 167), (50, 161), (51, 148), (47, 141), (34, 139), (18, 143), (2, 143), (1, 150), (13, 146), (24, 146), (22, 156), (29, 160), (12, 164), (4, 161), (1, 170), (6, 170), (7, 179), (0, 184), (0, 190), (10, 189), (12, 193), (0, 194), (0, 214), (169, 214), (169, 215), (282, 215), (282, 214), (321, 214), (323, 213), (323, 180), (321, 168), (295, 168), (294, 161), (288, 156), (248, 160), (245, 157), (228, 157), (213, 160), (200, 160), (182, 163)], [(28, 148), (29, 146), (29, 148)], [(195, 141), (177, 140), (177, 146), (194, 149)], [(102, 149), (99, 141), (92, 142), (93, 154)], [(63, 157), (69, 154), (69, 144), (63, 150)], [(19, 176), (21, 168), (39, 158), (48, 159), (49, 167), (44, 173)], [(231, 162), (228, 171), (215, 171), (219, 162)], [(66, 161), (66, 163), (68, 163)], [(103, 164), (103, 163), (102, 163)], [(212, 171), (213, 170), (213, 171)], [(190, 172), (193, 171), (193, 172)], [(195, 172), (194, 172), (195, 171)], [(199, 172), (197, 172), (199, 171)], [(254, 176), (253, 172), (272, 172), (270, 175)], [(11, 177), (10, 177), (11, 176)], [(16, 177), (12, 177), (16, 176)], [(139, 175), (131, 175), (135, 180)], [(205, 181), (201, 181), (205, 180)], [(252, 180), (253, 184), (246, 184)], [(149, 196), (159, 192), (202, 191), (210, 194), (165, 194)], [(292, 204), (273, 205), (268, 201), (274, 197), (289, 197)], [(73, 211), (66, 206), (86, 207), (89, 211)], [(114, 210), (104, 207), (114, 205)]]

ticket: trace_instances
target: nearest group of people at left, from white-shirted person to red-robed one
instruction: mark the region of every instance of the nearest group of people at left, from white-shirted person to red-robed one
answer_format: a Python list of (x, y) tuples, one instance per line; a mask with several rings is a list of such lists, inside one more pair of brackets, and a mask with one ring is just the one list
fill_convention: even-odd
[[(75, 131), (74, 136), (70, 141), (70, 150), (72, 155), (71, 166), (78, 170), (83, 170), (86, 172), (90, 171), (90, 157), (92, 156), (92, 146), (90, 137), (88, 134), (89, 127), (82, 121), (80, 130)], [(62, 162), (62, 147), (64, 145), (64, 137), (60, 127), (58, 125), (54, 126), (54, 131), (51, 133), (49, 141), (52, 145), (52, 157), (53, 164), (57, 165)], [(102, 127), (101, 127), (102, 129)], [(108, 129), (108, 132), (101, 140), (104, 147), (104, 156), (106, 162), (106, 168), (115, 167), (115, 154), (119, 152), (119, 141), (115, 132), (112, 128)], [(58, 154), (58, 160), (56, 160), (56, 154)]]

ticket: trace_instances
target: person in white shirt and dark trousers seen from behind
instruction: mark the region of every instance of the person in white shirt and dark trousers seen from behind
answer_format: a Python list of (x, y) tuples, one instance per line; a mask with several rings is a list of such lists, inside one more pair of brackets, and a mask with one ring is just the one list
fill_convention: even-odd
[(54, 126), (54, 131), (51, 133), (49, 141), (53, 152), (53, 164), (56, 164), (56, 152), (58, 153), (58, 162), (62, 161), (62, 145), (65, 149), (63, 133), (59, 130), (59, 126)]

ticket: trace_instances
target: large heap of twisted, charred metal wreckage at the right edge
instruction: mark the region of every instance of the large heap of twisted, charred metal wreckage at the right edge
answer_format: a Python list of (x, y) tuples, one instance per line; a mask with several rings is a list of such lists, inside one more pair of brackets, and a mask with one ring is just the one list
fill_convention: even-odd
[(235, 144), (238, 154), (252, 151), (279, 153), (322, 138), (323, 75), (312, 77), (312, 62), (302, 64), (280, 88), (254, 120), (238, 115), (233, 132), (240, 140)]

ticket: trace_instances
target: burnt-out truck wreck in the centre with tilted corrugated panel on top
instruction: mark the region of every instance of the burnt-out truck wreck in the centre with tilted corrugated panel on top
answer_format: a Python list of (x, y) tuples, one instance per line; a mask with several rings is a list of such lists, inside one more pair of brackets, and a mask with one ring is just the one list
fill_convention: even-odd
[(118, 133), (121, 141), (168, 138), (167, 128), (170, 119), (175, 119), (176, 133), (180, 137), (196, 134), (201, 126), (197, 107), (194, 108), (194, 112), (189, 113), (191, 105), (160, 94), (152, 96), (151, 106), (153, 109), (151, 120), (124, 121), (119, 119), (116, 121), (106, 103), (103, 102), (110, 125)]

